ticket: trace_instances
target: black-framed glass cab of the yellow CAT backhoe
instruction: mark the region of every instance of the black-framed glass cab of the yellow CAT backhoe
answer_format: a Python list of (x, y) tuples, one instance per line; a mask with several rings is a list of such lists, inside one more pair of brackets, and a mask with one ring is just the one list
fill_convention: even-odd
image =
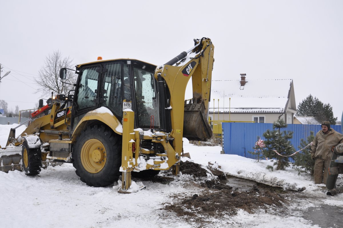
[(100, 60), (76, 66), (79, 77), (75, 87), (71, 130), (87, 112), (100, 107), (109, 109), (119, 121), (123, 111), (131, 109), (135, 112), (135, 128), (159, 128), (155, 68), (135, 59)]

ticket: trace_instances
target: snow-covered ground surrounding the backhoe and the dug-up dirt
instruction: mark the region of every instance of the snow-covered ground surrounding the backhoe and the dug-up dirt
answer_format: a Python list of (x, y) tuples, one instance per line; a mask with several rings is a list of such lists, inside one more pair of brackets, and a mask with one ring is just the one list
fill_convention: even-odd
[[(1, 146), (5, 145), (13, 126), (16, 125), (0, 125)], [(205, 218), (209, 223), (199, 225), (196, 219), (177, 217), (162, 209), (173, 204), (177, 200), (175, 196), (192, 196), (202, 191), (187, 184), (191, 181), (187, 175), (169, 183), (143, 181), (146, 189), (119, 194), (117, 184), (101, 188), (87, 186), (76, 176), (71, 164), (63, 164), (42, 169), (34, 177), (20, 171), (0, 172), (0, 227), (343, 227), (343, 223), (331, 222), (326, 215), (321, 219), (324, 223), (310, 219), (316, 207), (327, 208), (328, 213), (335, 212), (342, 218), (343, 194), (327, 196), (324, 185), (314, 185), (309, 176), (299, 176), (291, 168), (269, 171), (265, 167), (271, 161), (222, 155), (219, 146), (199, 147), (189, 144), (187, 139), (184, 139), (184, 151), (204, 166), (209, 161), (218, 163), (228, 175), (285, 190), (302, 187), (306, 190), (293, 194), (284, 210), (286, 213), (275, 212), (273, 207), (257, 210), (255, 214), (239, 209), (235, 216)], [(343, 183), (342, 176), (340, 181)]]

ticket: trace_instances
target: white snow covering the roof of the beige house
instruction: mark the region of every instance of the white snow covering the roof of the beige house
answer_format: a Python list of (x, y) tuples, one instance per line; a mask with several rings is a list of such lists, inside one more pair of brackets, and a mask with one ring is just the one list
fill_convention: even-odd
[[(284, 112), (292, 79), (213, 80), (209, 112)], [(230, 99), (229, 99), (230, 98)]]

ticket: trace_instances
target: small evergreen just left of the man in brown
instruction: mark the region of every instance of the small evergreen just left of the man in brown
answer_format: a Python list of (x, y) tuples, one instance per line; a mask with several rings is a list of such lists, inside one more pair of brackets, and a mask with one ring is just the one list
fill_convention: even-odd
[[(314, 133), (310, 132), (310, 135), (307, 137), (307, 141), (301, 139), (299, 149), (306, 147), (310, 142), (313, 142), (315, 139)], [(294, 157), (294, 169), (300, 173), (307, 173), (313, 176), (314, 174), (314, 166), (315, 161), (311, 158), (311, 147), (308, 146), (299, 153), (297, 153)]]

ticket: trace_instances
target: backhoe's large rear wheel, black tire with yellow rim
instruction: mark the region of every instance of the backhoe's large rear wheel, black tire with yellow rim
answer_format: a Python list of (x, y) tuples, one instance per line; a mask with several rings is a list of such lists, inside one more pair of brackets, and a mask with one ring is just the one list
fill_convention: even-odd
[(80, 180), (89, 186), (104, 187), (118, 180), (121, 138), (110, 128), (88, 126), (73, 148), (73, 166)]

